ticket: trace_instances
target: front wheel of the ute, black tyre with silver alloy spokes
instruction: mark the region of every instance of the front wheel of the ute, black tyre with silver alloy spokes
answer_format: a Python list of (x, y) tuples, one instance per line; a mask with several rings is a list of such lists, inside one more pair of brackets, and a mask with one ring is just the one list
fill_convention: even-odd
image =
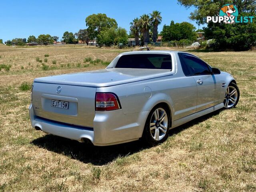
[(224, 108), (231, 109), (235, 107), (239, 101), (240, 92), (239, 88), (235, 83), (230, 83), (226, 90), (225, 98), (224, 98)]

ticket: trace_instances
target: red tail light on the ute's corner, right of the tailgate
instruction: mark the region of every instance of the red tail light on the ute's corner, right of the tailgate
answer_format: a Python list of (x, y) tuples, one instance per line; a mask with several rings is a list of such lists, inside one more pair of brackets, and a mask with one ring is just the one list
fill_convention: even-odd
[(96, 93), (96, 111), (120, 109), (118, 97), (113, 93)]

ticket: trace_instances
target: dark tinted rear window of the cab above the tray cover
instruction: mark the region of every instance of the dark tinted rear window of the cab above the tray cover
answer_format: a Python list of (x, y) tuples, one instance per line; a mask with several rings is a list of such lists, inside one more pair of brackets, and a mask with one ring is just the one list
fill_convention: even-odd
[(119, 58), (116, 68), (169, 69), (172, 59), (167, 54), (131, 54)]

